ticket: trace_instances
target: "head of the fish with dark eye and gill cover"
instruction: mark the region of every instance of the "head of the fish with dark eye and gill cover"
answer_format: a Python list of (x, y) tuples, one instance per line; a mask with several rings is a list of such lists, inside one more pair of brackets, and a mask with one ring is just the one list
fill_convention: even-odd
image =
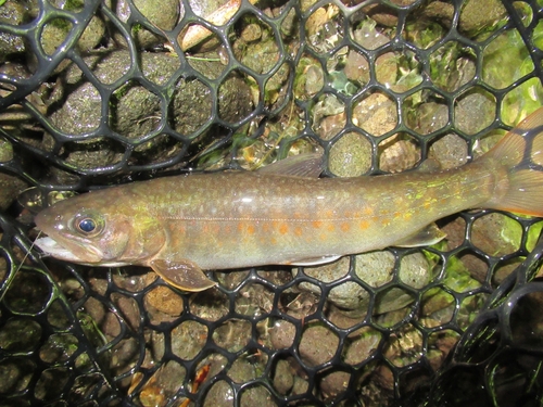
[[(112, 196), (109, 196), (112, 195)], [(36, 240), (46, 254), (93, 266), (144, 264), (164, 244), (164, 231), (144, 215), (130, 213), (115, 191), (90, 192), (61, 201), (35, 216), (47, 237)], [(129, 201), (128, 201), (129, 202)]]

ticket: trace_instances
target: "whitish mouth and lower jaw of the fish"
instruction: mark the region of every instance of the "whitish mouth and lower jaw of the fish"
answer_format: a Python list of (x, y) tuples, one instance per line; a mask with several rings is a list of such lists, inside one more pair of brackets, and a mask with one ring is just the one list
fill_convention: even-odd
[[(64, 245), (48, 236), (36, 239), (34, 243), (47, 255), (61, 260), (92, 265), (103, 259), (103, 253), (97, 247), (92, 245), (85, 245), (84, 247), (85, 243), (77, 242), (73, 237), (70, 243)], [(84, 253), (85, 256), (77, 256), (74, 252)]]

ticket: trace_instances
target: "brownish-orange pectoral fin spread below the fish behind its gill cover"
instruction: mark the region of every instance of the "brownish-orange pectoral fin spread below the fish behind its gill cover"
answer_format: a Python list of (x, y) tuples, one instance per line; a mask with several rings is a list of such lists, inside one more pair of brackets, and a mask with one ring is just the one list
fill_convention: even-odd
[(216, 282), (211, 281), (195, 263), (187, 259), (182, 262), (154, 259), (150, 266), (168, 284), (184, 291), (203, 291), (216, 285)]

